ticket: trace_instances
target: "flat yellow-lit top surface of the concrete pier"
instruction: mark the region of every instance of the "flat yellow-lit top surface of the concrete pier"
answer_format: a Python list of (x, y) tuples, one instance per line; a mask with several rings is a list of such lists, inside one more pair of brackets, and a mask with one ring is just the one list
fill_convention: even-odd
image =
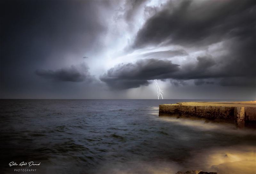
[(178, 102), (176, 104), (164, 104), (164, 105), (256, 107), (256, 101), (238, 101), (238, 102)]

